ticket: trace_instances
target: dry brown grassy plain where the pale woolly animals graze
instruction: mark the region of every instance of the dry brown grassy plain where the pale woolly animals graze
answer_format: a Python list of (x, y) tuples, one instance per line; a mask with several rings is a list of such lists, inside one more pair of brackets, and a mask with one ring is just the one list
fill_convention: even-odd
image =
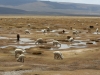
[[(0, 75), (100, 75), (100, 34), (95, 32), (96, 28), (100, 29), (99, 24), (99, 17), (0, 16)], [(51, 32), (43, 33), (41, 30), (47, 27)], [(81, 33), (73, 35), (71, 28)], [(25, 34), (25, 30), (30, 34)], [(17, 33), (32, 41), (16, 42)], [(70, 43), (66, 41), (68, 36), (86, 44)], [(51, 43), (35, 45), (38, 38), (47, 42), (55, 39), (68, 48), (52, 50)], [(91, 41), (95, 43), (88, 43)], [(19, 46), (26, 50), (24, 63), (15, 58), (14, 50)], [(62, 52), (63, 60), (54, 59), (56, 50)]]

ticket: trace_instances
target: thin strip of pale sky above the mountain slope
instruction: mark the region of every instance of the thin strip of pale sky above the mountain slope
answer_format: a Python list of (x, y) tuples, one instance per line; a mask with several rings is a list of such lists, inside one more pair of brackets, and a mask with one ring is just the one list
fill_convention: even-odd
[(74, 2), (74, 3), (99, 4), (100, 5), (100, 0), (44, 0), (44, 1)]

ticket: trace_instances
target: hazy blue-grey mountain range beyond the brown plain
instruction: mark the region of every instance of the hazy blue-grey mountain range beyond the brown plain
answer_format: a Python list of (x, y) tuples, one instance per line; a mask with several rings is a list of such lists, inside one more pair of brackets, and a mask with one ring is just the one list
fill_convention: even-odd
[(100, 5), (40, 0), (0, 0), (0, 14), (99, 16)]

